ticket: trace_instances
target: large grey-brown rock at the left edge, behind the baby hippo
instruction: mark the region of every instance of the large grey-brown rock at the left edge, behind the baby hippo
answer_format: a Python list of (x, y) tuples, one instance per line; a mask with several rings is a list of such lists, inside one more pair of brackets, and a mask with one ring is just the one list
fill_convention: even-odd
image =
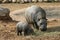
[(0, 7), (0, 20), (11, 19), (9, 16), (10, 10), (8, 8), (1, 8)]

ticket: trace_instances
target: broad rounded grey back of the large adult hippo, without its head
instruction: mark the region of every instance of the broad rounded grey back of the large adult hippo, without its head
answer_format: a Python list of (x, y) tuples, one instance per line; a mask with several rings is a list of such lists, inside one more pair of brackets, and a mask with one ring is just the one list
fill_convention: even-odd
[(37, 17), (45, 18), (46, 13), (41, 7), (33, 5), (26, 9), (25, 16), (26, 16), (27, 21), (29, 23), (32, 23), (32, 22), (34, 22), (34, 20), (37, 19)]

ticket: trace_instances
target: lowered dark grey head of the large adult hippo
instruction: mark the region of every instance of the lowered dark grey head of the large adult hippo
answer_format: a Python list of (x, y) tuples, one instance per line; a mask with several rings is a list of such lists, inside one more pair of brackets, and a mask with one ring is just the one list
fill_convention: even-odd
[(37, 26), (41, 31), (46, 31), (47, 30), (47, 19), (40, 19), (37, 22)]

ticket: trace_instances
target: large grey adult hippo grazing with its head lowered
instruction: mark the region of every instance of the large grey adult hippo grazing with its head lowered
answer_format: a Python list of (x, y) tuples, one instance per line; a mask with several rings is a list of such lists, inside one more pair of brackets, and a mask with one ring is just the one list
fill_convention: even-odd
[(35, 28), (41, 29), (41, 31), (47, 30), (46, 12), (41, 7), (35, 5), (28, 7), (25, 11), (25, 17), (29, 24), (35, 25)]

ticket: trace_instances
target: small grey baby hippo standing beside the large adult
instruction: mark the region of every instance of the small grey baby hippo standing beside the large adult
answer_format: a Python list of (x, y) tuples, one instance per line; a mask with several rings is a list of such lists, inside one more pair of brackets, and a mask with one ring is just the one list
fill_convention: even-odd
[(30, 35), (33, 33), (32, 27), (27, 22), (18, 22), (16, 25), (17, 35)]

